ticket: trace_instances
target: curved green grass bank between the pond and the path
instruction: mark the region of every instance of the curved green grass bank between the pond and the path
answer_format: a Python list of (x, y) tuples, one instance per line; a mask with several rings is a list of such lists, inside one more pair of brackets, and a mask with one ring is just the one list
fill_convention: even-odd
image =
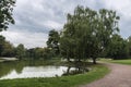
[(51, 78), (2, 79), (0, 87), (78, 87), (104, 77), (109, 73), (107, 66), (97, 64), (86, 74)]

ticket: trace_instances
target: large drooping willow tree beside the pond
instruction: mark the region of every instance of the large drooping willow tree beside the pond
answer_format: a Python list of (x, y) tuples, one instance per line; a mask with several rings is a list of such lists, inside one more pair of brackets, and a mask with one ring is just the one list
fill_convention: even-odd
[(60, 39), (61, 54), (75, 61), (96, 58), (105, 51), (114, 34), (119, 32), (119, 16), (115, 11), (76, 7), (73, 14), (68, 14)]

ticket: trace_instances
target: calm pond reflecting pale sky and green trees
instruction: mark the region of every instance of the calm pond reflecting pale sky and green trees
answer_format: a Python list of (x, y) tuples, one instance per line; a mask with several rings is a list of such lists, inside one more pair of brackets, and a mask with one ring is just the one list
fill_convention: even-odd
[(86, 72), (88, 72), (88, 69), (44, 65), (44, 62), (15, 61), (0, 63), (0, 79), (56, 77)]

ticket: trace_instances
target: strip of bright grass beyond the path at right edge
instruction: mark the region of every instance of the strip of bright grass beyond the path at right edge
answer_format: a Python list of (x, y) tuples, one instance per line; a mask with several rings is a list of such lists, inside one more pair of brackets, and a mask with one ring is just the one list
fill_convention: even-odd
[(127, 64), (131, 65), (131, 59), (129, 60), (109, 60), (109, 59), (100, 59), (100, 61), (104, 62), (110, 62), (110, 63), (118, 63), (118, 64)]

